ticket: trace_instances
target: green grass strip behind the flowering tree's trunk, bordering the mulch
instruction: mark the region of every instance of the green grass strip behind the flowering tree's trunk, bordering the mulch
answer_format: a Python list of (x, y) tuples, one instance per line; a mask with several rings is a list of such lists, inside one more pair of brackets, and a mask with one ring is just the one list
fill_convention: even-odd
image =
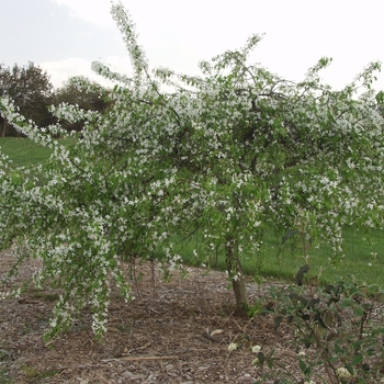
[[(353, 275), (368, 284), (384, 285), (384, 242), (382, 238), (383, 233), (381, 230), (373, 230), (370, 234), (369, 242), (363, 234), (353, 228), (346, 228), (343, 234), (346, 257), (341, 261), (331, 264), (329, 262), (329, 259), (332, 258), (330, 246), (321, 245), (319, 249), (310, 249), (308, 251), (310, 275), (320, 274), (320, 282), (323, 283)], [(183, 261), (187, 264), (195, 266), (196, 259), (193, 256), (193, 249), (196, 239), (185, 245), (180, 244), (176, 238), (174, 242), (178, 244), (176, 251), (179, 251)], [(260, 276), (292, 281), (300, 267), (305, 264), (300, 248), (292, 250), (290, 244), (285, 244), (283, 247), (281, 237), (276, 237), (272, 231), (267, 231), (263, 245), (260, 256), (241, 256), (244, 272), (253, 276), (256, 281)], [(371, 252), (377, 252), (374, 260)], [(210, 260), (210, 266), (225, 271), (224, 256), (213, 257)]]

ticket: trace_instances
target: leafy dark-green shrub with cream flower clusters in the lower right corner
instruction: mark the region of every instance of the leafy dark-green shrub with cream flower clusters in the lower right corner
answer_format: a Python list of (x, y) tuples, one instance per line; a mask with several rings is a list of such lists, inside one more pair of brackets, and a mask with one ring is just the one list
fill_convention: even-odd
[[(308, 269), (302, 267), (298, 272), (304, 274)], [(292, 342), (304, 381), (380, 382), (384, 374), (382, 293), (381, 287), (353, 279), (327, 286), (308, 289), (303, 284), (271, 291), (275, 304), (274, 328), (283, 321), (294, 328)], [(259, 359), (259, 363), (262, 360), (267, 359)], [(269, 359), (269, 363), (271, 371), (264, 379), (276, 374), (275, 362)], [(289, 370), (283, 375), (293, 377)], [(279, 372), (281, 377), (282, 372)]]

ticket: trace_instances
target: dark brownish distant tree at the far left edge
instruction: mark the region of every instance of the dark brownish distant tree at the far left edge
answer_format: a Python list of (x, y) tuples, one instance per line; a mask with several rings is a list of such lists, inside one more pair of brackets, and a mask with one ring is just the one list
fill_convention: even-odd
[[(15, 64), (13, 68), (0, 65), (0, 97), (11, 98), (19, 111), (37, 126), (47, 125), (53, 120), (48, 111), (53, 89), (48, 74), (32, 61), (23, 67)], [(18, 131), (0, 115), (0, 136), (12, 133), (18, 134)]]

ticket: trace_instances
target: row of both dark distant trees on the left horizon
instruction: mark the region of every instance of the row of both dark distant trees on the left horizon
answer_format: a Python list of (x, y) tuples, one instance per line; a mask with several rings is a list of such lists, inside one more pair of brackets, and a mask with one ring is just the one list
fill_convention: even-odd
[[(25, 66), (0, 64), (0, 97), (13, 100), (19, 112), (38, 127), (57, 122), (50, 105), (77, 104), (86, 111), (103, 112), (110, 101), (110, 90), (83, 76), (70, 77), (63, 87), (55, 89), (49, 75), (34, 63)], [(83, 122), (63, 122), (68, 131), (81, 131)], [(22, 134), (0, 112), (0, 137)]]

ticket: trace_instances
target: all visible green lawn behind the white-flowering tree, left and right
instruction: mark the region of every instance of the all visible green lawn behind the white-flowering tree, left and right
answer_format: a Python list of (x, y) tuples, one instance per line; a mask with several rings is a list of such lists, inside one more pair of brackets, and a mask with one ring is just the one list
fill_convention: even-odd
[[(49, 148), (38, 146), (26, 138), (0, 138), (0, 147), (15, 166), (38, 165), (46, 161), (50, 155)], [(354, 275), (370, 284), (384, 284), (383, 231), (375, 230), (370, 234), (371, 245), (364, 238), (363, 234), (353, 228), (346, 228), (343, 237), (346, 257), (336, 266), (331, 266), (328, 261), (332, 255), (329, 246), (324, 245), (319, 250), (309, 250), (312, 275), (316, 275), (323, 270), (320, 279), (324, 282), (335, 281), (339, 276)], [(276, 237), (271, 231), (266, 234), (263, 242), (264, 249), (261, 256), (242, 256), (245, 273), (256, 278), (262, 275), (293, 279), (298, 268), (305, 263), (302, 253), (300, 251), (292, 252), (289, 246), (282, 249), (281, 237)], [(180, 250), (185, 263), (195, 264), (196, 262), (192, 252), (193, 247), (194, 241), (191, 241)], [(377, 252), (375, 260), (372, 260), (372, 251)], [(225, 270), (224, 258), (218, 257), (217, 260), (212, 260), (212, 267)]]

